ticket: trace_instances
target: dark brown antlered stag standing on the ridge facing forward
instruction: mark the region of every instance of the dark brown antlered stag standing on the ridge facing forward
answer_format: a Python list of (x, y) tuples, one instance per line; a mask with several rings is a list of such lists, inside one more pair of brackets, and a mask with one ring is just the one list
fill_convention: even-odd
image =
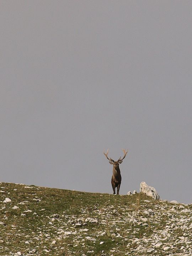
[(109, 160), (109, 163), (113, 165), (113, 175), (112, 175), (112, 179), (111, 179), (111, 185), (113, 188), (113, 194), (115, 194), (115, 188), (117, 187), (117, 194), (119, 194), (119, 188), (121, 186), (121, 172), (119, 169), (119, 164), (121, 164), (123, 162), (123, 159), (126, 157), (126, 154), (128, 152), (128, 150), (126, 151), (125, 149), (122, 149), (124, 152), (124, 156), (121, 159), (120, 158), (117, 161), (114, 161), (111, 158), (108, 158), (108, 151), (109, 149), (107, 149), (107, 153), (105, 153), (105, 150), (103, 151), (103, 154), (106, 156), (106, 158)]

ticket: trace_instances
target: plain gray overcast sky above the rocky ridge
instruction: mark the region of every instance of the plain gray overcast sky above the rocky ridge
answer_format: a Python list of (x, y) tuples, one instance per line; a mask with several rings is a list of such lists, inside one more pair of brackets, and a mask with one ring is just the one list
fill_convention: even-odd
[(192, 203), (192, 2), (0, 5), (0, 180)]

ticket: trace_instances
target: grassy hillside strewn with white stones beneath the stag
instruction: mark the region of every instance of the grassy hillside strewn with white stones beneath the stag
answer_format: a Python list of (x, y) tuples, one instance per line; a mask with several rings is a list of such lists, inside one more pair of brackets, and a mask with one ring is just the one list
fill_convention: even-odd
[(191, 205), (0, 183), (0, 255), (187, 256), (191, 241)]

